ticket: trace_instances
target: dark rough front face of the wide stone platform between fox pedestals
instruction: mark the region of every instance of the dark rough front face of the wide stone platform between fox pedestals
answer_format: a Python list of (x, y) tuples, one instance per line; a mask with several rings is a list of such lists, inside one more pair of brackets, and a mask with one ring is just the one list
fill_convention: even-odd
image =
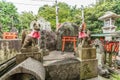
[(53, 61), (45, 68), (46, 80), (79, 80), (80, 78), (80, 61), (77, 59)]

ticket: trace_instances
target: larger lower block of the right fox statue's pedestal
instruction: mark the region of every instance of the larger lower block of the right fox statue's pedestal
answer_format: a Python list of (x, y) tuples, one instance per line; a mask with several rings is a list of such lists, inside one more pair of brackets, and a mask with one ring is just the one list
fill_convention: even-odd
[(97, 59), (80, 60), (80, 79), (89, 79), (98, 76)]

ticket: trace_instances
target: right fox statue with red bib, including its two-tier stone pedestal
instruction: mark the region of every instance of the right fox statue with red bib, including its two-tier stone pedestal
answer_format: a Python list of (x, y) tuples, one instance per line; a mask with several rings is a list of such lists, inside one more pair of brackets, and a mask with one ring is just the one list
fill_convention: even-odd
[(90, 33), (86, 31), (85, 23), (82, 23), (79, 39), (80, 42), (76, 49), (77, 56), (80, 59), (80, 79), (89, 79), (98, 76), (98, 61), (96, 59), (96, 48), (90, 45)]

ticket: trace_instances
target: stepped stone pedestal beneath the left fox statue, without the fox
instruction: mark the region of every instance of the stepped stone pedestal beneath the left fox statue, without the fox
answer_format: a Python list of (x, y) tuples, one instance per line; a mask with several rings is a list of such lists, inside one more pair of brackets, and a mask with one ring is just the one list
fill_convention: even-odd
[(19, 64), (29, 57), (34, 58), (40, 62), (43, 62), (43, 54), (40, 52), (39, 48), (29, 47), (29, 48), (21, 49), (21, 53), (17, 53), (16, 63)]

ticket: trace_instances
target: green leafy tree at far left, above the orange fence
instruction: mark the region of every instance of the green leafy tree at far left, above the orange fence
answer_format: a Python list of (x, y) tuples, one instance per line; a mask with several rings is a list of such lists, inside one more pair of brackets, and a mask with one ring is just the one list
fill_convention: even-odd
[(17, 9), (12, 3), (0, 1), (0, 23), (3, 31), (9, 31), (11, 27), (18, 25)]

